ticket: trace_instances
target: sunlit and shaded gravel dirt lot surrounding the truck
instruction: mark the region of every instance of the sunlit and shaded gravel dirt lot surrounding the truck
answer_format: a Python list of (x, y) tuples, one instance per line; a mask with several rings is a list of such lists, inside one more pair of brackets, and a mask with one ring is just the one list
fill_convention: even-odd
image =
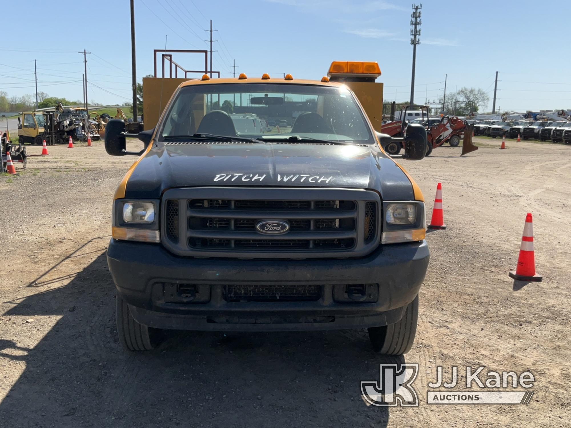
[[(365, 330), (168, 333), (156, 352), (124, 353), (105, 251), (112, 195), (134, 158), (100, 142), (30, 158), (25, 173), (0, 177), (0, 426), (569, 426), (571, 147), (475, 140), (465, 158), (442, 147), (404, 163), (429, 214), (443, 183), (448, 229), (427, 237), (404, 358), (420, 364), (420, 406), (389, 410), (365, 405), (359, 382), (403, 360), (373, 353)], [(527, 285), (508, 277), (526, 212), (544, 275)], [(529, 406), (427, 405), (436, 366), (466, 365), (530, 370), (535, 395)]]

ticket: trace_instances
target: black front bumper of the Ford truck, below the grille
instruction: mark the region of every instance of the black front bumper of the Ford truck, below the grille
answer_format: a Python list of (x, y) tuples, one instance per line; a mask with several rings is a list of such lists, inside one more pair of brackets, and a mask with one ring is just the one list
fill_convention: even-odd
[[(111, 240), (107, 263), (135, 320), (162, 329), (325, 330), (393, 324), (428, 267), (426, 241), (377, 248), (359, 259), (240, 260), (178, 257), (156, 244)], [(207, 285), (204, 303), (164, 299), (165, 282)], [(230, 302), (225, 285), (320, 285), (317, 301)], [(335, 286), (378, 285), (376, 302), (338, 302)]]

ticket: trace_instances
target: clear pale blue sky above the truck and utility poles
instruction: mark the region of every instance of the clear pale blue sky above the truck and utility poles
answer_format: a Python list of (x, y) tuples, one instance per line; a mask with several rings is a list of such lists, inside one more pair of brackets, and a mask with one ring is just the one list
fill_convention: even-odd
[[(23, 25), (22, 5), (2, 7), (0, 91), (38, 90), (81, 99), (84, 48), (88, 55), (89, 99), (100, 103), (130, 100), (131, 42), (128, 0), (94, 3), (75, 0), (55, 7), (29, 0), (45, 25)], [(412, 46), (411, 3), (381, 0), (135, 0), (137, 75), (153, 72), (153, 49), (208, 49), (204, 39), (212, 19), (214, 69), (272, 77), (320, 79), (332, 60), (375, 60), (383, 75), (384, 99), (408, 100)], [(545, 10), (536, 1), (458, 2), (424, 0), (421, 44), (417, 47), (415, 101), (479, 87), (493, 95), (500, 72), (497, 106), (501, 110), (571, 108), (571, 56), (566, 27), (568, 2)], [(87, 17), (84, 24), (83, 18)], [(51, 21), (53, 20), (53, 21)], [(50, 24), (53, 22), (53, 25)], [(187, 69), (203, 68), (199, 55), (176, 55)], [(93, 83), (93, 84), (92, 84)], [(427, 85), (428, 84), (428, 85)], [(428, 90), (428, 92), (427, 92)], [(485, 109), (484, 109), (485, 110)]]

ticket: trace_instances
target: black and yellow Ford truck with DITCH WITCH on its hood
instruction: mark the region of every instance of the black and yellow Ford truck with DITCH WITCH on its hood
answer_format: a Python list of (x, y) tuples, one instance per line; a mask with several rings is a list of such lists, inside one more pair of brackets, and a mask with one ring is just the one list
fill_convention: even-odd
[[(360, 62), (320, 81), (204, 75), (136, 135), (140, 152), (122, 120), (107, 124), (108, 154), (139, 155), (107, 251), (125, 348), (155, 348), (160, 329), (368, 328), (378, 352), (408, 352), (429, 260), (424, 199), (348, 87), (379, 75)], [(422, 125), (408, 124), (404, 147), (424, 157)]]

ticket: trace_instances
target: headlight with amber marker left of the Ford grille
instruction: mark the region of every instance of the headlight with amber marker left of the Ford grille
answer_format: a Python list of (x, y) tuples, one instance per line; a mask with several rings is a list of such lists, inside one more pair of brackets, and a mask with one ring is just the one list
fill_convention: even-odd
[(115, 200), (112, 213), (113, 238), (159, 243), (158, 206), (158, 200)]

